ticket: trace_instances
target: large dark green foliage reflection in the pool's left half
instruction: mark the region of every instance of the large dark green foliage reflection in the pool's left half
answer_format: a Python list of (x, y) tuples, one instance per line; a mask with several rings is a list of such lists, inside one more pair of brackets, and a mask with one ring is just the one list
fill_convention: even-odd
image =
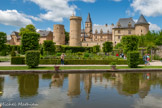
[(39, 76), (27, 74), (18, 76), (20, 97), (35, 96), (38, 94)]

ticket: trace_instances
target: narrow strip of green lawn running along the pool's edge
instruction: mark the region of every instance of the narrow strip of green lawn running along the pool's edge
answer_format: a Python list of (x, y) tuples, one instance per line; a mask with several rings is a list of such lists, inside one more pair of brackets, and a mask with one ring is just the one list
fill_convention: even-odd
[[(139, 66), (136, 69), (162, 69), (162, 66)], [(60, 67), (61, 70), (73, 70), (73, 69), (111, 69), (110, 66), (69, 66)], [(117, 66), (117, 69), (130, 69), (128, 66)], [(28, 69), (27, 66), (0, 66), (0, 70), (54, 70), (54, 67), (37, 67)]]

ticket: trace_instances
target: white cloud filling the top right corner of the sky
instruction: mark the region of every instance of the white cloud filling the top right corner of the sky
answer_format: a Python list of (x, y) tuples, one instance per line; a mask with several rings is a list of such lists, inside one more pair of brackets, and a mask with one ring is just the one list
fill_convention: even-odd
[(140, 12), (145, 16), (162, 15), (162, 0), (133, 0), (131, 7), (134, 12)]

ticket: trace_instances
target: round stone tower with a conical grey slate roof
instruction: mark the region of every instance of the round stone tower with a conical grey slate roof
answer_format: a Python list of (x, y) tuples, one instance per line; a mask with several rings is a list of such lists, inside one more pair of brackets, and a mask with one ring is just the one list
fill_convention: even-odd
[(135, 24), (135, 34), (145, 35), (149, 32), (149, 23), (143, 15), (140, 16), (137, 23)]

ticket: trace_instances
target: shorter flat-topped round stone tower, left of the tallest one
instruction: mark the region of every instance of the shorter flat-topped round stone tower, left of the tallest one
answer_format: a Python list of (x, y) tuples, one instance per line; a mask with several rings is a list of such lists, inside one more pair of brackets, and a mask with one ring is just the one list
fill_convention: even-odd
[(53, 30), (53, 42), (56, 43), (56, 45), (65, 45), (65, 29), (64, 25), (54, 25)]

